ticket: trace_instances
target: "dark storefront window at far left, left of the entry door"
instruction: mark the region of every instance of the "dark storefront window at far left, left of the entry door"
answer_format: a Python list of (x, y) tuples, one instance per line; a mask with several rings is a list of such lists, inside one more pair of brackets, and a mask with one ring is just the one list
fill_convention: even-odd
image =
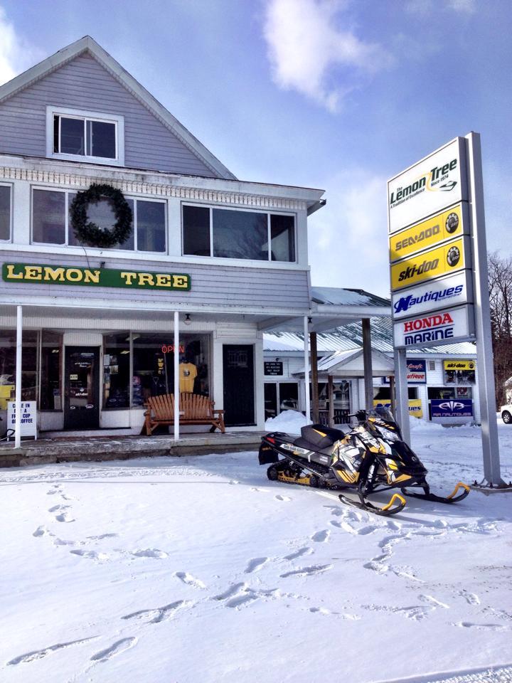
[[(23, 332), (21, 401), (37, 399), (37, 343), (37, 332)], [(6, 410), (7, 401), (14, 401), (15, 389), (16, 330), (0, 330), (0, 410)]]

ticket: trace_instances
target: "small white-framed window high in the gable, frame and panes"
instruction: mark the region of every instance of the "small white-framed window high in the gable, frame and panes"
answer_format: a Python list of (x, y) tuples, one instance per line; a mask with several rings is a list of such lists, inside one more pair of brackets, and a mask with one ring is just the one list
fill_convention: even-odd
[(124, 166), (122, 116), (46, 107), (46, 124), (48, 157)]

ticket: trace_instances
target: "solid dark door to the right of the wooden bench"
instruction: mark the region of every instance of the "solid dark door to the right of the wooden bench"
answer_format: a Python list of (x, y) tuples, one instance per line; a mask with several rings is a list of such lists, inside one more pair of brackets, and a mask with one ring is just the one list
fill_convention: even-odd
[(224, 420), (229, 427), (255, 425), (254, 346), (223, 346)]

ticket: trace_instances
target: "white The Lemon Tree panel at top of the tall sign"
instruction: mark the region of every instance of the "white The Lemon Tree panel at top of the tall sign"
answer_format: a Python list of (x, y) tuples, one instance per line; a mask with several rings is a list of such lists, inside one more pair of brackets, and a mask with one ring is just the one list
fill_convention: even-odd
[(463, 146), (457, 137), (388, 182), (390, 233), (467, 199)]

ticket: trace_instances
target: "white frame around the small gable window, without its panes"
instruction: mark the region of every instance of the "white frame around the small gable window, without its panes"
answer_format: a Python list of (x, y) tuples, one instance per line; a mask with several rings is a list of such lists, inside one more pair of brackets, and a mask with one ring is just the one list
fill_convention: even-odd
[[(53, 117), (63, 116), (68, 119), (80, 119), (87, 121), (100, 121), (102, 123), (115, 124), (116, 138), (116, 157), (107, 159), (106, 157), (92, 157), (87, 154), (61, 154), (53, 152)], [(85, 135), (85, 151), (87, 152), (87, 135)], [(105, 114), (104, 112), (91, 112), (88, 110), (68, 109), (48, 105), (46, 107), (46, 156), (50, 159), (63, 159), (68, 162), (92, 162), (103, 166), (124, 166), (124, 116), (120, 114)]]

